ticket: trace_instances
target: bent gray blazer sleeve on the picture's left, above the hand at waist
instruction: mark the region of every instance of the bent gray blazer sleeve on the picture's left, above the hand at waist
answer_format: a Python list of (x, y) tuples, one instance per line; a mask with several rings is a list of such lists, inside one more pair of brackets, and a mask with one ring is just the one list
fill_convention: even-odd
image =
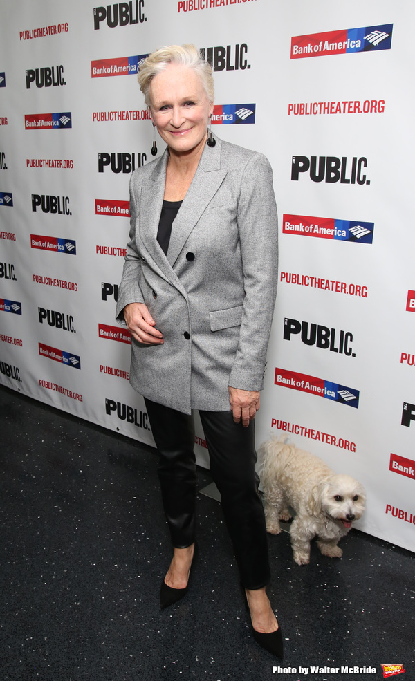
[(118, 287), (118, 301), (116, 306), (116, 320), (122, 326), (127, 326), (124, 320), (124, 307), (129, 303), (143, 303), (144, 298), (140, 290), (140, 256), (136, 246), (136, 229), (138, 228), (138, 205), (139, 205), (139, 185), (138, 180), (133, 174), (129, 184), (129, 212), (130, 212), (130, 231), (129, 243), (127, 243), (127, 254), (124, 259), (122, 279)]

